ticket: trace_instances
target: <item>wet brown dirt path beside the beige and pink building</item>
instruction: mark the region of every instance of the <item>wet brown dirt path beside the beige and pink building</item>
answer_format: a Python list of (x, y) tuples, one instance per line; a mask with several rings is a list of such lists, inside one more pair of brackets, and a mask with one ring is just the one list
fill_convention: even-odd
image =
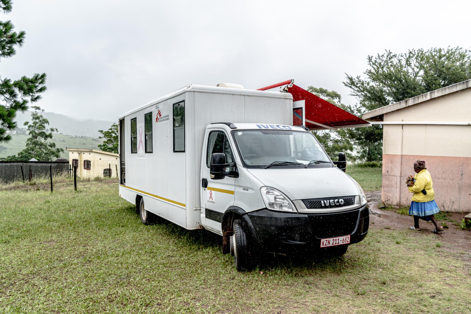
[[(396, 230), (408, 230), (408, 228), (414, 225), (414, 219), (412, 216), (400, 215), (392, 210), (382, 210), (378, 208), (381, 203), (381, 191), (366, 192), (366, 198), (370, 205), (370, 222), (374, 224), (370, 225), (370, 228), (387, 228)], [(450, 219), (458, 222), (463, 220), (466, 214), (454, 213), (450, 216)], [(442, 249), (456, 251), (463, 253), (463, 261), (471, 267), (471, 231), (463, 230), (458, 226), (455, 226), (448, 222), (448, 228), (437, 233), (434, 236), (437, 240), (443, 242)], [(431, 233), (435, 228), (432, 222), (420, 221), (421, 231), (410, 231), (411, 233), (420, 235), (422, 233)]]

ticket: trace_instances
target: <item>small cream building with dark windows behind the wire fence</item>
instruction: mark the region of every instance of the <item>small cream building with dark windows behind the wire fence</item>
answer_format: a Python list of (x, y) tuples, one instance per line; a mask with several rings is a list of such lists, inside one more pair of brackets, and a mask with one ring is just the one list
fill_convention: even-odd
[(111, 166), (111, 177), (117, 176), (118, 154), (96, 149), (67, 148), (69, 164), (77, 166), (77, 177), (108, 177)]

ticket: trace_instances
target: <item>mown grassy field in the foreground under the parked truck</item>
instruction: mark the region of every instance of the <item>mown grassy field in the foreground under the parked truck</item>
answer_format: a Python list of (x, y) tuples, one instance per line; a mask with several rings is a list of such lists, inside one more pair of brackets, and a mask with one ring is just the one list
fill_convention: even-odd
[[(265, 257), (142, 225), (115, 179), (0, 192), (0, 313), (470, 313), (471, 276), (433, 234), (377, 229), (342, 258)], [(263, 272), (263, 274), (261, 273)]]

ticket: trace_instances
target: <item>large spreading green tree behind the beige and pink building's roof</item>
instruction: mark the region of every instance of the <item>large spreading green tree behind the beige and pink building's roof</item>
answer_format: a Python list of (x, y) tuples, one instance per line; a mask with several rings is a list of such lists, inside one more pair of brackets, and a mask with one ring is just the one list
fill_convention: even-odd
[[(369, 68), (359, 75), (347, 75), (343, 82), (357, 97), (359, 104), (354, 113), (366, 111), (421, 95), (471, 79), (471, 51), (459, 47), (447, 49), (412, 49), (396, 54), (386, 50), (383, 54), (367, 57)], [(366, 161), (382, 158), (382, 126), (348, 130), (349, 137), (358, 147), (359, 157)]]

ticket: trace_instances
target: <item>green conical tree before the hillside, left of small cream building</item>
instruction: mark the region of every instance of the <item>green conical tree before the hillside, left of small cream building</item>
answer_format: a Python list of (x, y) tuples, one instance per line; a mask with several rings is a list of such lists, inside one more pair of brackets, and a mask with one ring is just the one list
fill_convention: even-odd
[(10, 161), (28, 161), (36, 158), (38, 161), (51, 161), (52, 158), (60, 157), (64, 149), (57, 148), (56, 143), (48, 142), (52, 138), (52, 133), (57, 132), (56, 128), (46, 128), (49, 125), (48, 119), (42, 116), (44, 110), (39, 106), (32, 106), (34, 111), (31, 113), (31, 123), (26, 121), (24, 125), (28, 127), (28, 139), (26, 148), (18, 153), (17, 156), (8, 156), (5, 160)]

